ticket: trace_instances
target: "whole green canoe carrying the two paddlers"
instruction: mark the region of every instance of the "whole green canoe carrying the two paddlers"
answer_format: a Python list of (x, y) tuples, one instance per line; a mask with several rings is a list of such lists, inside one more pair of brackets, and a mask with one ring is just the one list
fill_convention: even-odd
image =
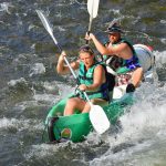
[[(69, 97), (63, 98), (49, 111), (45, 120), (49, 142), (62, 142), (65, 139), (71, 139), (74, 143), (82, 142), (93, 131), (89, 113), (81, 114), (75, 111), (73, 115), (63, 116)], [(116, 123), (124, 113), (124, 106), (131, 103), (131, 98), (132, 94), (125, 94), (123, 98), (115, 100), (110, 105), (103, 107), (111, 124), (114, 125)]]

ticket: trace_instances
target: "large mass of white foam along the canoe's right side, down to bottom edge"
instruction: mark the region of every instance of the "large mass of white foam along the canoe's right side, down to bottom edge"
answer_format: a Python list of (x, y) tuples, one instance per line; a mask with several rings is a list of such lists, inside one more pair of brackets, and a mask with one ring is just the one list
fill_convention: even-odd
[[(131, 112), (120, 118), (122, 131), (116, 137), (114, 135), (104, 137), (110, 148), (98, 158), (91, 160), (91, 166), (108, 166), (110, 162), (113, 165), (133, 164), (135, 166), (163, 164), (166, 155), (164, 153), (166, 142), (165, 90), (166, 86), (154, 90), (154, 86), (145, 84), (136, 92), (141, 97), (131, 107)], [(144, 155), (139, 155), (141, 153)], [(156, 156), (157, 159), (154, 158)]]

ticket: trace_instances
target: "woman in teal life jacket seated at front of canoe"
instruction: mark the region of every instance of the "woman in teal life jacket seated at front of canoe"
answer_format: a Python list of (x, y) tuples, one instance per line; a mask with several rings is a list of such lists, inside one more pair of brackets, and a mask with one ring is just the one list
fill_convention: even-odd
[[(64, 63), (64, 56), (66, 53), (62, 51), (56, 71), (59, 74), (70, 73), (70, 69)], [(93, 50), (89, 45), (81, 46), (79, 51), (79, 60), (72, 62), (71, 68), (79, 70), (79, 95), (70, 97), (64, 108), (64, 116), (72, 115), (74, 110), (79, 110), (82, 113), (90, 111), (90, 104), (85, 101), (83, 91), (89, 95), (89, 98), (93, 104), (105, 106), (108, 104), (111, 96), (110, 91), (113, 91), (115, 85), (115, 77), (111, 75), (110, 82), (106, 75), (106, 68), (96, 61)], [(108, 87), (110, 85), (110, 87)]]

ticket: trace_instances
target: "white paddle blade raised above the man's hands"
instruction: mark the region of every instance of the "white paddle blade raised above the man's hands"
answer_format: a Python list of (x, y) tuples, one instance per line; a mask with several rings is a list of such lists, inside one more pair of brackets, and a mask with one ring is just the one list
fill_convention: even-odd
[(87, 0), (87, 11), (91, 18), (96, 18), (98, 12), (100, 0)]

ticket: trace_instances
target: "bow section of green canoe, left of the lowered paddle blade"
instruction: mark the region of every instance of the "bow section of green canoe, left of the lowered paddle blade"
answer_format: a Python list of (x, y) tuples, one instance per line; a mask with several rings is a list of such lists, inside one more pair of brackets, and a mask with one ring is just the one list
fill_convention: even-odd
[[(71, 95), (69, 96), (71, 97)], [(45, 125), (48, 125), (49, 141), (71, 139), (72, 142), (81, 142), (92, 131), (92, 124), (89, 118), (89, 113), (63, 116), (63, 111), (68, 98), (60, 101), (49, 112)], [(58, 117), (58, 118), (56, 118)], [(56, 118), (55, 121), (53, 118)], [(52, 137), (53, 135), (53, 137)]]

